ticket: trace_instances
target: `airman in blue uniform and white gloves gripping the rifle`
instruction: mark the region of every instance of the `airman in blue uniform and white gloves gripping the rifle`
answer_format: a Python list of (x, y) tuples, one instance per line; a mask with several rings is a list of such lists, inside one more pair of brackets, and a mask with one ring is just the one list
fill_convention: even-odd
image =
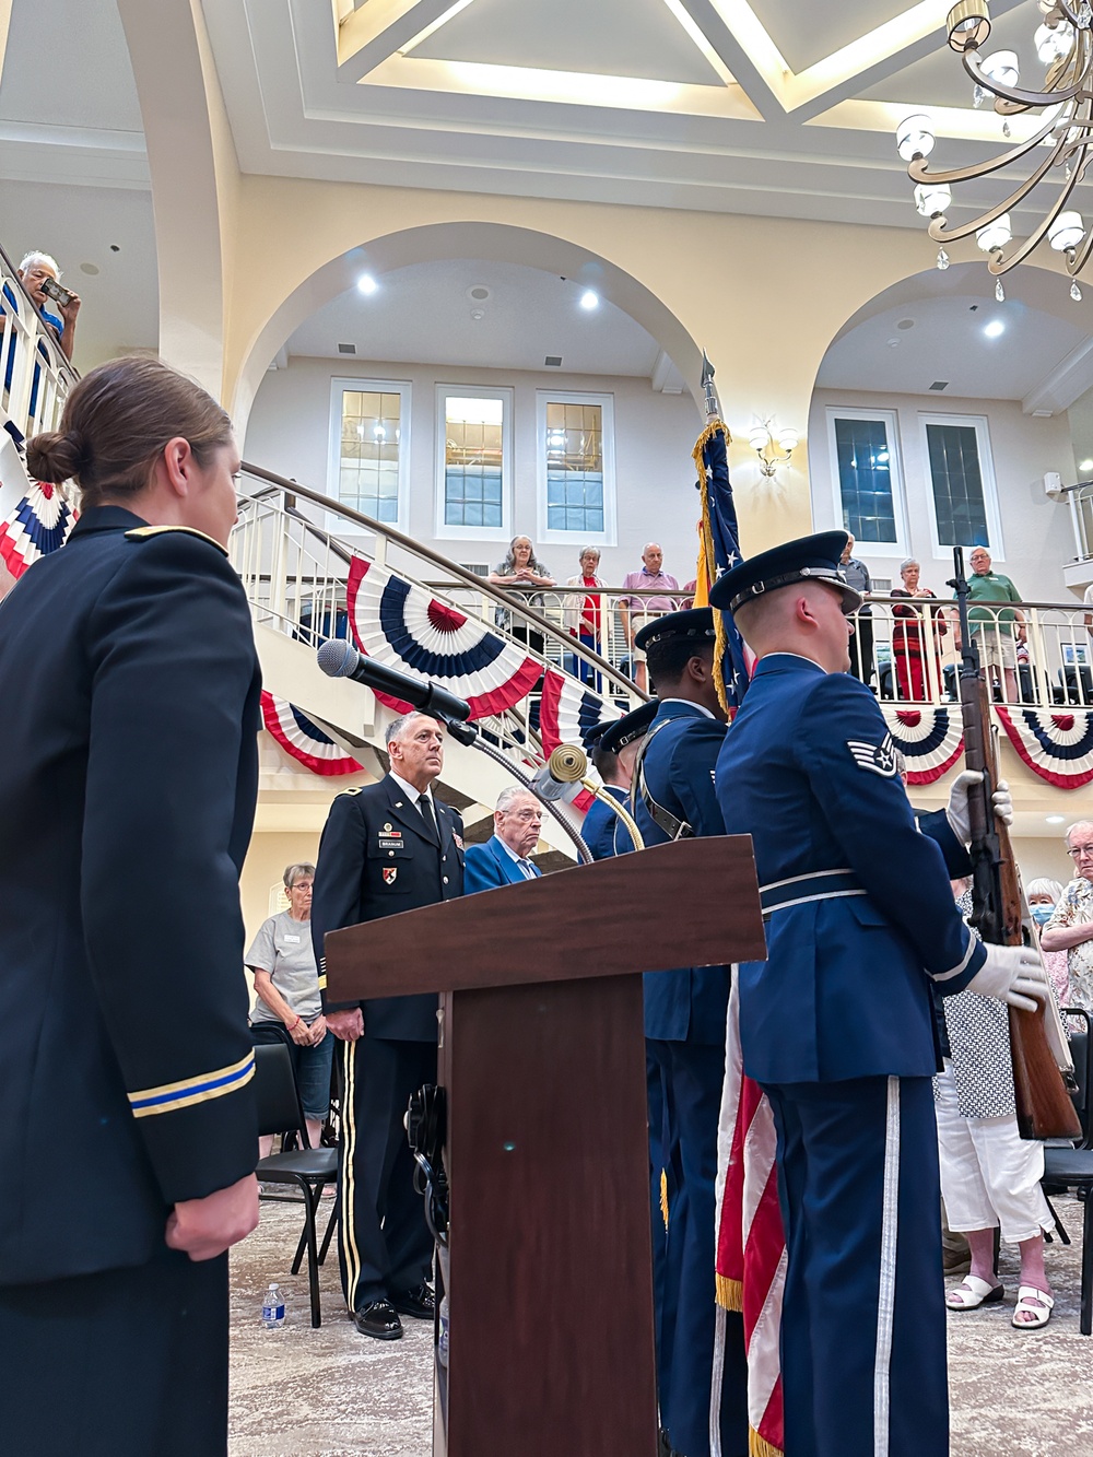
[(740, 1040), (778, 1131), (787, 1457), (944, 1457), (930, 988), (1027, 1007), (1045, 988), (1026, 950), (971, 935), (915, 826), (880, 708), (848, 673), (845, 542), (787, 542), (710, 593), (759, 659), (717, 762), (767, 922), (767, 960), (739, 970)]

